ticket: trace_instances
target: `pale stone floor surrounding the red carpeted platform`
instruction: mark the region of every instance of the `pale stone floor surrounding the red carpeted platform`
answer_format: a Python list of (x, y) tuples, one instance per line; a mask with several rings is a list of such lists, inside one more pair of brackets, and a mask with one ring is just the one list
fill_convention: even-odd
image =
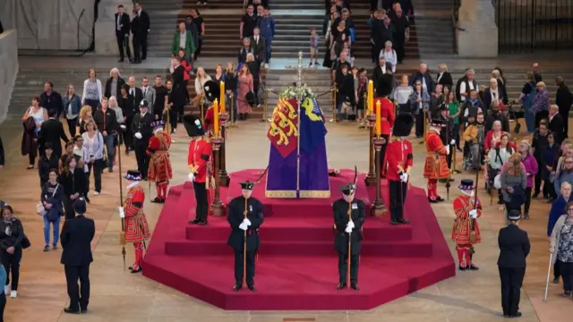
[[(329, 123), (328, 149), (330, 167), (352, 167), (367, 170), (367, 137), (355, 123)], [(121, 246), (118, 244), (120, 220), (116, 207), (119, 203), (117, 166), (113, 174), (103, 175), (103, 193), (92, 198), (88, 216), (96, 220), (97, 236), (92, 244), (95, 261), (91, 265), (90, 314), (68, 316), (62, 314), (67, 296), (63, 267), (59, 264), (61, 250), (42, 252), (42, 220), (35, 215), (34, 205), (38, 199), (38, 177), (35, 171), (25, 170), (27, 157), (21, 157), (19, 143), (21, 125), (6, 122), (0, 128), (4, 147), (8, 152), (7, 164), (0, 170), (0, 196), (13, 204), (21, 218), (32, 247), (24, 251), (21, 266), (20, 297), (8, 299), (6, 321), (65, 322), (65, 321), (251, 321), (271, 322), (309, 318), (304, 320), (338, 322), (373, 321), (415, 321), (464, 322), (502, 320), (500, 317), (500, 284), (496, 267), (498, 248), (497, 231), (503, 225), (503, 218), (497, 206), (490, 206), (488, 197), (482, 193), (485, 211), (479, 220), (483, 232), (483, 243), (477, 245), (475, 262), (481, 267), (477, 272), (458, 273), (454, 278), (442, 281), (392, 301), (377, 309), (368, 311), (224, 311), (197, 301), (185, 294), (124, 270)], [(267, 162), (269, 144), (265, 138), (267, 124), (259, 122), (241, 123), (229, 133), (227, 140), (227, 165), (229, 171), (245, 167), (264, 167)], [(173, 167), (173, 183), (184, 182), (187, 173), (185, 164), (188, 138), (180, 127), (170, 152)], [(423, 146), (414, 144), (416, 152)], [(352, 151), (351, 153), (348, 153)], [(123, 168), (132, 168), (134, 157), (122, 156)], [(461, 164), (458, 155), (458, 165)], [(423, 153), (415, 154), (413, 184), (423, 186)], [(457, 175), (458, 182), (463, 175)], [(148, 190), (147, 184), (144, 184)], [(455, 185), (454, 185), (455, 187)], [(450, 191), (450, 200), (458, 195), (457, 189)], [(440, 187), (440, 194), (446, 191)], [(154, 196), (155, 191), (148, 192)], [(155, 226), (160, 206), (145, 205), (151, 227)], [(434, 207), (445, 238), (449, 241), (451, 222), (454, 217), (450, 202)], [(520, 309), (522, 321), (564, 321), (573, 314), (571, 300), (558, 296), (560, 286), (551, 284), (549, 301), (543, 299), (543, 287), (547, 272), (547, 242), (544, 236), (548, 205), (535, 200), (530, 221), (522, 226), (528, 231), (532, 242), (532, 253), (528, 258), (525, 289), (522, 292)], [(407, 215), (406, 215), (407, 216)], [(452, 245), (453, 250), (453, 245)], [(133, 252), (128, 248), (128, 265)], [(333, 268), (334, 269), (334, 268)], [(209, 272), (190, 272), (190, 274)], [(334, 283), (334, 282), (333, 282)], [(334, 285), (334, 284), (333, 284)], [(229, 285), (230, 287), (231, 285)]]

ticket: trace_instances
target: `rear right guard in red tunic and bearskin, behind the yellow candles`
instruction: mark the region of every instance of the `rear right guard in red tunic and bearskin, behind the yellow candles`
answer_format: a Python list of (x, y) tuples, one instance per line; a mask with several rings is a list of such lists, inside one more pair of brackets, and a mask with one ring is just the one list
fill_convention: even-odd
[(377, 102), (381, 102), (381, 137), (386, 140), (386, 143), (382, 145), (380, 151), (380, 162), (382, 162), (381, 169), (384, 168), (383, 160), (385, 159), (384, 157), (386, 157), (386, 148), (388, 147), (390, 133), (392, 131), (392, 127), (394, 126), (394, 104), (388, 98), (392, 92), (392, 89), (394, 88), (393, 85), (394, 80), (392, 75), (383, 74), (376, 84), (376, 98), (373, 101), (374, 113), (378, 113), (376, 111), (378, 106)]

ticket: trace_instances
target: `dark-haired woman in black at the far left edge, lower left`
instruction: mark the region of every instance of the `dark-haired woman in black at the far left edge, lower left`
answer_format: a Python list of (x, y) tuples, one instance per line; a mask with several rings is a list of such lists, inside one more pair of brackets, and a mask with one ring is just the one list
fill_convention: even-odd
[[(4, 220), (0, 222), (0, 258), (6, 269), (4, 293), (6, 295), (10, 293), (10, 297), (15, 299), (18, 297), (24, 226), (21, 225), (20, 219), (14, 216), (12, 207), (4, 206), (1, 211)], [(12, 284), (10, 284), (10, 273), (12, 273)]]

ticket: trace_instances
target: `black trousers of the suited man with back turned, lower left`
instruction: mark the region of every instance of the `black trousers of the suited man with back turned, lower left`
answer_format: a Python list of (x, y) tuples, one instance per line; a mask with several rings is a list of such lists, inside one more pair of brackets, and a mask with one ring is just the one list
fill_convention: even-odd
[[(86, 310), (90, 302), (90, 265), (64, 265), (65, 284), (70, 297), (70, 309)], [(78, 280), (80, 284), (78, 285)]]

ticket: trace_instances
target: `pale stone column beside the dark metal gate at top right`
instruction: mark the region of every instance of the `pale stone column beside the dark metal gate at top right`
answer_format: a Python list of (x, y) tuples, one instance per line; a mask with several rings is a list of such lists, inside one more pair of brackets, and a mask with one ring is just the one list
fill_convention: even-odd
[(459, 8), (458, 55), (490, 58), (498, 55), (498, 27), (492, 0), (462, 0)]

